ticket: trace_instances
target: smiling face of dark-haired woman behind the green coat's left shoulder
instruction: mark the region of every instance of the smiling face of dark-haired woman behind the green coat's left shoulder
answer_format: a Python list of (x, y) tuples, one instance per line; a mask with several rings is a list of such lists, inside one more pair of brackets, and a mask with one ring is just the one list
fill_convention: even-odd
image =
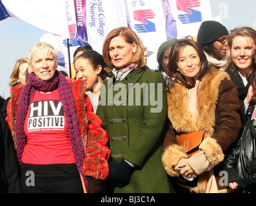
[(75, 75), (78, 79), (84, 79), (87, 82), (86, 90), (92, 90), (98, 83), (98, 75), (101, 73), (101, 65), (94, 68), (88, 59), (79, 57), (75, 61)]

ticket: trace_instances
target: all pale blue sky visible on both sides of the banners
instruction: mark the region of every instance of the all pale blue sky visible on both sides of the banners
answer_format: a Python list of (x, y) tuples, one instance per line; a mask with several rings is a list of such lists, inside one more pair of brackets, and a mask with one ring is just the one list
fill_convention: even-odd
[[(253, 26), (256, 20), (255, 0), (210, 0), (210, 4), (213, 17), (220, 15), (228, 30)], [(8, 80), (15, 62), (28, 55), (28, 50), (40, 40), (44, 31), (15, 18), (0, 21), (0, 31), (0, 95), (7, 98), (10, 96)]]

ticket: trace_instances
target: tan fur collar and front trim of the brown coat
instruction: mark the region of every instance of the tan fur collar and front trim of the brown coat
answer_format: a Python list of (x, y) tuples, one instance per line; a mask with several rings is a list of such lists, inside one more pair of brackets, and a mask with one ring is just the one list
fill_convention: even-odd
[(168, 118), (178, 133), (206, 130), (212, 135), (215, 126), (215, 109), (219, 100), (219, 86), (230, 79), (226, 71), (210, 70), (202, 78), (197, 92), (198, 120), (195, 122), (188, 108), (185, 86), (175, 83), (168, 89)]

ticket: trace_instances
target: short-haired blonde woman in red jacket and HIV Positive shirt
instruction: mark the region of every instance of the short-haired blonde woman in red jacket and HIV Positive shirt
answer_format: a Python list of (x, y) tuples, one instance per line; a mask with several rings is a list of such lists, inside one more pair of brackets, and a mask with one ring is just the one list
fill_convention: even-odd
[(85, 182), (88, 192), (103, 192), (108, 138), (84, 93), (86, 82), (56, 70), (57, 53), (50, 44), (32, 46), (28, 59), (29, 82), (10, 90), (7, 107), (21, 190), (83, 192)]

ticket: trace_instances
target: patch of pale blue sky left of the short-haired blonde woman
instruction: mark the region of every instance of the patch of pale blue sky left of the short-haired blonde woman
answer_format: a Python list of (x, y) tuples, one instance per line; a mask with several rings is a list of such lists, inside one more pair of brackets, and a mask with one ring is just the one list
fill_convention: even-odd
[(39, 41), (43, 30), (16, 18), (0, 21), (0, 95), (9, 97), (8, 80), (17, 59), (27, 57), (30, 47)]

